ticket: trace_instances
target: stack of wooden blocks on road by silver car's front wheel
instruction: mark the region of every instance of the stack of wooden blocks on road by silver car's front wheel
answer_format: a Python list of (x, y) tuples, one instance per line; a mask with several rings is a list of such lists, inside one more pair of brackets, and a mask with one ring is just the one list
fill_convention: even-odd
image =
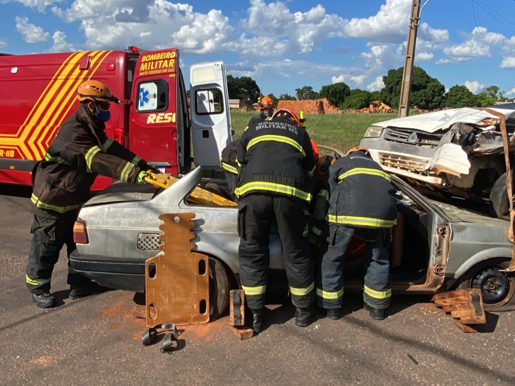
[(432, 301), (445, 313), (450, 313), (463, 332), (477, 332), (477, 325), (486, 323), (483, 296), (477, 288), (438, 293)]

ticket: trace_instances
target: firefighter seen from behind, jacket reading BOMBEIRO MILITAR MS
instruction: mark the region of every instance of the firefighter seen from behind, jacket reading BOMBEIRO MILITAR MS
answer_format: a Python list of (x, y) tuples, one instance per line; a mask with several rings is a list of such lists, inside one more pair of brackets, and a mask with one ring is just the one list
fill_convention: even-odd
[(313, 262), (307, 242), (308, 203), (315, 169), (310, 137), (295, 113), (278, 110), (271, 120), (250, 126), (238, 148), (239, 276), (253, 329), (263, 328), (269, 266), (270, 226), (277, 221), (295, 324), (311, 323)]

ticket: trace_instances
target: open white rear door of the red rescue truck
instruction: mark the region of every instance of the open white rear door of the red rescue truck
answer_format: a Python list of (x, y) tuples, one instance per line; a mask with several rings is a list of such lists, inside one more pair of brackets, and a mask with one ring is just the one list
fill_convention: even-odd
[(224, 62), (194, 64), (190, 70), (193, 162), (220, 168), (222, 150), (232, 142)]

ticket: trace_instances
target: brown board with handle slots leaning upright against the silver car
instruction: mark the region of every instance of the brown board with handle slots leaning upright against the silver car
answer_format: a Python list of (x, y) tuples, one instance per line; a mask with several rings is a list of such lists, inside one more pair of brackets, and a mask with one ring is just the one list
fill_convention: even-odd
[(193, 253), (194, 213), (160, 215), (160, 250), (145, 262), (145, 314), (148, 327), (209, 322), (209, 261)]

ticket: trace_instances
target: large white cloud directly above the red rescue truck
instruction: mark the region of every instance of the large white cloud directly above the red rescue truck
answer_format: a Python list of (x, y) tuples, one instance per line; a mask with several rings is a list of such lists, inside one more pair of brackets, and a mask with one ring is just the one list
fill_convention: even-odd
[(185, 52), (207, 54), (222, 50), (233, 38), (229, 17), (220, 10), (199, 13), (191, 5), (166, 0), (75, 0), (69, 8), (53, 11), (67, 22), (81, 21), (91, 48), (130, 43), (155, 49), (178, 46)]

